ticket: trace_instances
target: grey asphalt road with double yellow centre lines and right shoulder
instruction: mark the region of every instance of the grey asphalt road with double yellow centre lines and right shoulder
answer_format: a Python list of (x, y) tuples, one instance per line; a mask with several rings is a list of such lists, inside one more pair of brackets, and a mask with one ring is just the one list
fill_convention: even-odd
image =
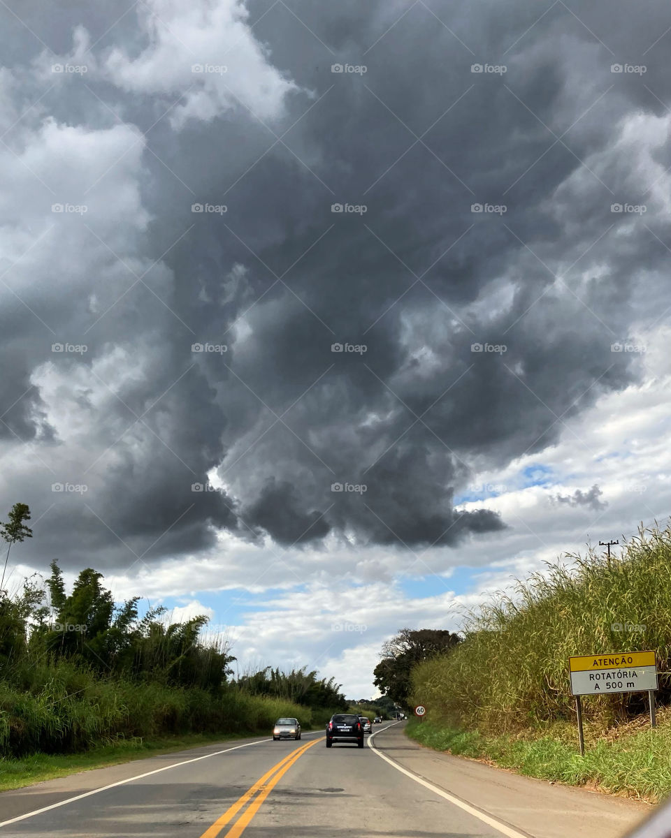
[(419, 747), (381, 725), (363, 750), (248, 739), (0, 794), (0, 836), (617, 838), (650, 808)]

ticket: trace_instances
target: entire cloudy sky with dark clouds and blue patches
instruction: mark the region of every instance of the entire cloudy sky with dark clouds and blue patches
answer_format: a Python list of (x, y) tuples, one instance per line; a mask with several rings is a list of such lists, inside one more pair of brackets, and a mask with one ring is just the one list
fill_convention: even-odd
[(667, 524), (667, 3), (0, 17), (10, 588), (93, 566), (359, 698), (398, 629)]

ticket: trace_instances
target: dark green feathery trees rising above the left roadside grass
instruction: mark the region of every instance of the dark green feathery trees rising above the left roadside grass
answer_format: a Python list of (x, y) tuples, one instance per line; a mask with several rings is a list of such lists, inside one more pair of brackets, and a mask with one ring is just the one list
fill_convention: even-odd
[[(49, 601), (45, 603), (45, 599)], [(15, 680), (27, 665), (69, 661), (97, 675), (118, 675), (167, 686), (221, 686), (235, 660), (224, 644), (203, 644), (205, 616), (166, 623), (166, 609), (138, 615), (140, 597), (116, 606), (102, 574), (81, 571), (70, 594), (51, 562), (44, 582), (34, 578), (10, 599), (0, 598), (0, 673)], [(278, 696), (283, 697), (283, 696)]]

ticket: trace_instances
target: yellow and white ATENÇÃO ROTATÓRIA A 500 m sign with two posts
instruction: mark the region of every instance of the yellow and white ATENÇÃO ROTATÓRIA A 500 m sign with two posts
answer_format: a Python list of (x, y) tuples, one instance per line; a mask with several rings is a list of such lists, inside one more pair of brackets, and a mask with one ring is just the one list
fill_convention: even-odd
[(581, 654), (569, 658), (571, 693), (575, 696), (578, 717), (580, 756), (585, 756), (580, 696), (602, 696), (622, 692), (648, 692), (650, 725), (655, 721), (657, 665), (654, 652), (613, 652), (612, 654)]

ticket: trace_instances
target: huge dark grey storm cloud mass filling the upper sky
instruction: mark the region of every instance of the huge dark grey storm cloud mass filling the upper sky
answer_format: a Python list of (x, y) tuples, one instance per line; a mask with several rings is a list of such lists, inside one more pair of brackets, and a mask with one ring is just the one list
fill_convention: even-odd
[[(247, 91), (250, 101), (229, 97), (216, 116), (171, 122), (198, 80), (170, 88), (169, 67), (154, 70), (153, 90), (115, 83), (101, 69), (112, 50), (137, 58), (151, 48), (135, 12), (112, 26), (123, 9), (70, 4), (50, 20), (26, 4), (28, 28), (6, 30), (8, 65), (23, 70), (8, 85), (15, 116), (3, 130), (51, 81), (25, 69), (44, 49), (34, 34), (57, 56), (70, 53), (75, 26), (93, 44), (86, 79), (57, 85), (9, 132), (16, 153), (49, 116), (109, 137), (127, 132), (110, 153), (125, 163), (94, 173), (92, 195), (107, 192), (81, 220), (86, 250), (74, 232), (65, 240), (75, 276), (32, 311), (3, 293), (12, 370), (3, 437), (17, 456), (18, 439), (42, 437), (46, 466), (67, 456), (75, 482), (90, 484), (90, 510), (69, 502), (50, 513), (64, 556), (95, 550), (112, 563), (117, 551), (194, 551), (222, 527), (283, 545), (328, 533), (454, 544), (504, 525), (492, 512), (454, 508), (473, 458), (494, 468), (542, 451), (566, 419), (637, 374), (632, 355), (611, 344), (634, 314), (649, 313), (634, 292), (655, 290), (668, 260), (655, 239), (666, 241), (660, 206), (646, 197), (654, 165), (662, 174), (669, 163), (668, 142), (653, 136), (671, 92), (663, 46), (645, 53), (668, 26), (663, 4), (643, 17), (628, 3), (593, 3), (574, 10), (585, 25), (564, 3), (543, 16), (531, 3), (287, 7), (294, 14), (269, 0), (248, 7), (268, 61), (295, 85), (278, 118), (257, 118), (263, 101)], [(244, 49), (226, 51), (226, 85), (248, 60)], [(611, 73), (616, 62), (645, 64), (645, 85)], [(366, 72), (334, 73), (334, 64)], [(506, 72), (474, 73), (477, 64)], [(635, 119), (638, 152), (625, 132)], [(137, 158), (124, 157), (133, 137)], [(129, 184), (141, 196), (139, 209), (130, 202), (138, 222), (129, 210), (126, 226), (106, 224), (106, 201)], [(641, 216), (611, 212), (646, 201), (649, 229)], [(226, 212), (194, 214), (195, 203)], [(24, 220), (21, 233), (28, 228)], [(25, 235), (18, 251), (29, 245)], [(49, 267), (25, 266), (22, 282), (46, 283)], [(49, 424), (59, 423), (44, 393), (31, 389), (35, 368), (54, 360), (36, 315), (60, 338), (88, 344), (81, 364), (106, 396), (101, 404), (82, 383), (68, 421), (83, 417), (86, 432), (67, 441)], [(225, 349), (194, 353), (196, 343)], [(124, 353), (105, 364), (115, 347)], [(226, 492), (192, 491), (217, 466)], [(60, 460), (54, 468), (67, 477)], [(20, 489), (45, 510), (53, 480), (44, 468), (17, 478), (7, 503)], [(593, 491), (570, 502), (600, 504)]]

